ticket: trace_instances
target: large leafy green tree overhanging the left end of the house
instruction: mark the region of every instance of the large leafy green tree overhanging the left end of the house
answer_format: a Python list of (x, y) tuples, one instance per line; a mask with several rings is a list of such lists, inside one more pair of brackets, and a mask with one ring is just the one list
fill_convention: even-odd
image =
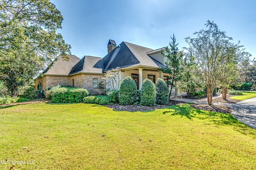
[(68, 59), (62, 20), (49, 0), (0, 1), (0, 78), (12, 94), (59, 55)]

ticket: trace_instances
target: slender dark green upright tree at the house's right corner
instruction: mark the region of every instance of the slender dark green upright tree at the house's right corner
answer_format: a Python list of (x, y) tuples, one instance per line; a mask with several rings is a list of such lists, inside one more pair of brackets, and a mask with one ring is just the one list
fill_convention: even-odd
[(171, 96), (172, 89), (176, 86), (176, 82), (180, 80), (180, 70), (182, 61), (182, 53), (178, 52), (178, 44), (176, 44), (176, 37), (174, 37), (174, 34), (173, 37), (171, 37), (171, 39), (172, 42), (169, 43), (170, 48), (167, 46), (164, 48), (165, 51), (161, 51), (162, 55), (168, 59), (167, 62), (165, 61), (167, 68), (159, 67), (159, 69), (162, 72), (169, 74), (169, 76), (167, 76), (166, 81), (166, 83), (170, 87), (169, 98)]

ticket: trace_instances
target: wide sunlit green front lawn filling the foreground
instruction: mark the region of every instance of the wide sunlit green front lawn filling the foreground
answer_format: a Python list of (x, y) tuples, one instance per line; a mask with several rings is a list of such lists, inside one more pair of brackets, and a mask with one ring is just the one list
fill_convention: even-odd
[[(141, 138), (141, 140), (140, 140)], [(0, 169), (256, 169), (256, 130), (232, 115), (171, 106), (0, 106)], [(122, 152), (121, 152), (122, 150)]]

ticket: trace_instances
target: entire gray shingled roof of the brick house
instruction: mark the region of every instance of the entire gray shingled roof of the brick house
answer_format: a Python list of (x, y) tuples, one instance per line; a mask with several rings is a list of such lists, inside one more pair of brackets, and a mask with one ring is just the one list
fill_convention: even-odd
[[(110, 43), (115, 44), (112, 40)], [(150, 66), (155, 68), (161, 66), (166, 68), (164, 64), (147, 55), (150, 51), (153, 51), (153, 49), (122, 42), (104, 58), (84, 56), (80, 60), (74, 55), (68, 55), (69, 61), (62, 61), (62, 57), (58, 57), (52, 67), (50, 69), (47, 67), (43, 74), (70, 75), (79, 72), (101, 74), (116, 67), (125, 68), (129, 66)]]

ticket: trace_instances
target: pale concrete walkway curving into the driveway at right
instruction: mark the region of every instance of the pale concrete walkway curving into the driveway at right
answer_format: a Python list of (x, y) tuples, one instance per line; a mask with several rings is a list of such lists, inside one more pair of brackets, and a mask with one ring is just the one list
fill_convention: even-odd
[[(221, 96), (216, 96), (214, 98), (218, 98)], [(206, 99), (173, 99), (180, 102), (187, 102), (187, 103), (196, 103), (196, 104), (207, 104)], [(241, 121), (242, 123), (256, 129), (256, 98), (250, 98), (246, 100), (242, 100), (236, 104), (226, 104), (220, 102), (212, 102), (212, 104), (228, 106), (230, 107), (232, 113), (231, 115)]]

